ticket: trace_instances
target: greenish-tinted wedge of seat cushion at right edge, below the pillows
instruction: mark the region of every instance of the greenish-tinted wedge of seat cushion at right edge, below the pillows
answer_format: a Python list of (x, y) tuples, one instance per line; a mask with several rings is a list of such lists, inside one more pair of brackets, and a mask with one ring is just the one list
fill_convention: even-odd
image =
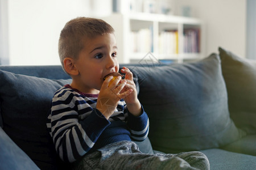
[(222, 149), (256, 156), (256, 135), (247, 135), (236, 142), (222, 147)]

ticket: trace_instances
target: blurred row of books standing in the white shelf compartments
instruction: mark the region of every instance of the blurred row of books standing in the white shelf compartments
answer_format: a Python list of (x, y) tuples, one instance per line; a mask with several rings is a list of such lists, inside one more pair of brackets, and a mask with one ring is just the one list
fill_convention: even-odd
[[(181, 40), (182, 39), (182, 40)], [(179, 37), (177, 30), (164, 30), (159, 33), (159, 54), (178, 54), (179, 41), (183, 41), (183, 53), (200, 53), (200, 29), (184, 29)], [(154, 52), (154, 36), (151, 28), (133, 31), (130, 34), (130, 48), (133, 53)]]

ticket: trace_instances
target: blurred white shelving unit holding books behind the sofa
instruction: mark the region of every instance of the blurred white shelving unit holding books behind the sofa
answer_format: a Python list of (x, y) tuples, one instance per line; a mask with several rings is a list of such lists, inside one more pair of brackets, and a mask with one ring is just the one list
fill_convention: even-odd
[[(103, 19), (115, 29), (119, 63), (139, 61), (148, 52), (156, 59), (175, 62), (197, 59), (204, 55), (204, 26), (199, 19), (144, 12), (114, 13)], [(194, 32), (189, 42), (184, 38), (186, 30)], [(196, 49), (184, 52), (186, 44)]]

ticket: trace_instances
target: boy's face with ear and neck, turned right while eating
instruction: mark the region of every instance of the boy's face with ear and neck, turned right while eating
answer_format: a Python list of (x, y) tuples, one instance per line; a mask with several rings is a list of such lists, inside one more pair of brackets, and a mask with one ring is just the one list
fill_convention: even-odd
[(107, 33), (86, 40), (75, 65), (79, 70), (79, 75), (74, 82), (76, 88), (85, 93), (98, 93), (104, 76), (119, 70), (114, 34)]

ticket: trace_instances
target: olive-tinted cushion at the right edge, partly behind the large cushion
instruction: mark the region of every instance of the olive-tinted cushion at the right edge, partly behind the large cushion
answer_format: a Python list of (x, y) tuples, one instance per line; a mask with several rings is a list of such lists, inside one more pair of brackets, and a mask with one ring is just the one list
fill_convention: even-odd
[(228, 91), (230, 117), (247, 133), (256, 133), (256, 62), (219, 48)]

